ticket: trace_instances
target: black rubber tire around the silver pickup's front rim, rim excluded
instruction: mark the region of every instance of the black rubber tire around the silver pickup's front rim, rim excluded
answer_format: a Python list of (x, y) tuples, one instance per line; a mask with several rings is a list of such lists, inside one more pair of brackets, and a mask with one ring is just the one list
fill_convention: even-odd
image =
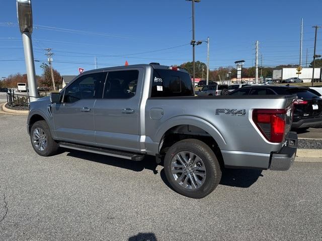
[[(35, 129), (40, 128), (41, 130), (43, 130), (45, 137), (46, 137), (46, 147), (44, 148), (44, 150), (39, 150), (36, 147), (36, 144), (34, 143), (33, 140), (33, 134)], [(38, 121), (35, 122), (30, 130), (30, 141), (31, 141), (31, 145), (33, 147), (33, 149), (35, 150), (35, 152), (43, 157), (48, 157), (48, 156), (52, 156), (55, 155), (59, 149), (58, 144), (52, 139), (49, 127), (47, 125), (47, 123), (45, 121)]]

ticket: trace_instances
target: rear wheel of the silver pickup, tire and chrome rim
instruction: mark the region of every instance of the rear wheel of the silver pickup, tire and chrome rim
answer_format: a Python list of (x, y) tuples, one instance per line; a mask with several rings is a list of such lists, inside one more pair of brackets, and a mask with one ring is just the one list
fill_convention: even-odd
[(216, 155), (209, 146), (196, 139), (182, 140), (170, 147), (164, 166), (172, 188), (187, 197), (207, 196), (221, 179)]

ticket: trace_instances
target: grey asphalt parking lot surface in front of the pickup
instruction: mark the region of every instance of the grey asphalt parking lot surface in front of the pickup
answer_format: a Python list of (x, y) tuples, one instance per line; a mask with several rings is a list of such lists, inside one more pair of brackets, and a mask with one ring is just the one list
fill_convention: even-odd
[(0, 114), (0, 240), (322, 240), (322, 163), (228, 169), (196, 200), (153, 158), (38, 156), (26, 118)]

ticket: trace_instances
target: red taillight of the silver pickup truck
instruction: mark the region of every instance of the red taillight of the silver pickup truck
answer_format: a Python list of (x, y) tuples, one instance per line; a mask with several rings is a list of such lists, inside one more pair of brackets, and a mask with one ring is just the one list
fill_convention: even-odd
[(254, 109), (253, 121), (269, 142), (282, 142), (286, 129), (286, 109)]

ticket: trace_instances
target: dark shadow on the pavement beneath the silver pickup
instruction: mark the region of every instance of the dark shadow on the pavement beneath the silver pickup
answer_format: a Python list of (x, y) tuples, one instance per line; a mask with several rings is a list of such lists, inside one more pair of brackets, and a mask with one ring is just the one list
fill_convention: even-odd
[[(141, 172), (144, 169), (151, 170), (154, 174), (157, 174), (158, 171), (154, 157), (146, 156), (143, 161), (135, 162), (130, 160), (125, 160), (116, 157), (109, 157), (94, 153), (73, 151), (73, 150), (63, 150), (62, 152), (67, 152), (67, 156), (75, 157), (79, 159), (84, 159), (92, 162), (98, 162), (106, 165), (111, 165), (115, 167), (125, 168), (135, 172)], [(160, 171), (160, 176), (164, 183), (171, 188), (165, 174), (165, 170)], [(229, 169), (226, 168), (222, 172), (220, 185), (232, 186), (232, 187), (243, 187), (248, 188), (252, 186), (259, 177), (263, 177), (262, 170), (257, 169)], [(172, 189), (172, 188), (171, 188)]]

